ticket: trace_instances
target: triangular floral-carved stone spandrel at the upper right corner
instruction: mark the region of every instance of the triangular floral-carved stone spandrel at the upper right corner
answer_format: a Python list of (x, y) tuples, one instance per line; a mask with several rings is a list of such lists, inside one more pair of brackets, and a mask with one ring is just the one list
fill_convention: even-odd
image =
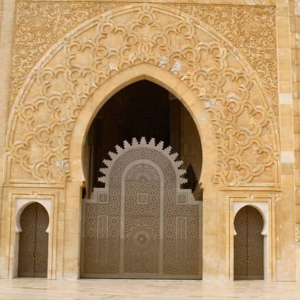
[(174, 7), (216, 29), (247, 57), (266, 85), (277, 111), (275, 8), (203, 4)]

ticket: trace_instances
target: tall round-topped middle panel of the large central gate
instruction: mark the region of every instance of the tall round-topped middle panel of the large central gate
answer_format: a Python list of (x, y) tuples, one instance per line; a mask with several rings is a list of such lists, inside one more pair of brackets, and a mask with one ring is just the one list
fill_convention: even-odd
[(135, 164), (125, 176), (125, 274), (159, 274), (160, 188), (157, 171), (147, 163)]

